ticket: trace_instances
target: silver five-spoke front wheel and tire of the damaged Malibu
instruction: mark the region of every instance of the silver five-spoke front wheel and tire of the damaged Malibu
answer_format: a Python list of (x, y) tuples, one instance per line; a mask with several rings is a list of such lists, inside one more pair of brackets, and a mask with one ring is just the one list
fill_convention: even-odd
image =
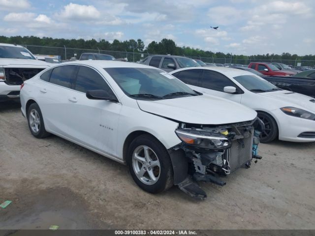
[(144, 191), (159, 193), (173, 186), (170, 156), (151, 135), (140, 135), (131, 142), (127, 163), (133, 180)]

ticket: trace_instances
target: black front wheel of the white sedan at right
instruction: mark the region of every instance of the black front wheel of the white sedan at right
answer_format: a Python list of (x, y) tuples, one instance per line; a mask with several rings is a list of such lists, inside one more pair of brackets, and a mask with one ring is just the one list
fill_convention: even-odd
[(270, 143), (278, 137), (278, 125), (276, 120), (265, 112), (257, 112), (258, 118), (265, 124), (265, 131), (260, 134), (261, 143)]

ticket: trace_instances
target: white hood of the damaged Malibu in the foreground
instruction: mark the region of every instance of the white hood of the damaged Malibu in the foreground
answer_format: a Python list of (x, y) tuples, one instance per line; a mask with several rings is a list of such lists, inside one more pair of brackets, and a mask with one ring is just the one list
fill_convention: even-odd
[(164, 100), (137, 100), (142, 111), (195, 124), (228, 124), (252, 120), (257, 113), (239, 103), (201, 95)]

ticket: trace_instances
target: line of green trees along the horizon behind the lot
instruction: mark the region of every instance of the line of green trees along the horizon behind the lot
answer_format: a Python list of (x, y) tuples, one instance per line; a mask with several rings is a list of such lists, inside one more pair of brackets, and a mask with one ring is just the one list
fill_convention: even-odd
[[(108, 50), (108, 51), (121, 51), (121, 52), (135, 52), (145, 54), (170, 54), (179, 55), (193, 58), (201, 58), (205, 62), (217, 62), (217, 63), (240, 63), (248, 64), (250, 61), (263, 61), (263, 60), (282, 60), (287, 64), (294, 64), (305, 61), (302, 65), (314, 66), (315, 55), (298, 56), (296, 54), (291, 55), (290, 53), (279, 54), (263, 54), (263, 55), (232, 55), (221, 52), (204, 51), (198, 48), (190, 47), (179, 47), (171, 39), (162, 39), (160, 42), (152, 41), (145, 47), (144, 42), (141, 39), (129, 39), (120, 41), (115, 39), (113, 42), (109, 42), (105, 39), (96, 41), (95, 39), (84, 40), (84, 39), (64, 39), (64, 38), (51, 38), (51, 37), (36, 37), (36, 36), (0, 36), (0, 43), (11, 43), (20, 45), (37, 45), (37, 46), (50, 46), (50, 47), (63, 47), (67, 48), (82, 48), (82, 49), (94, 49), (94, 50)], [(137, 57), (138, 58), (138, 57)], [(208, 58), (208, 59), (205, 59)], [(221, 61), (218, 61), (221, 59)], [(224, 60), (222, 60), (224, 59)]]

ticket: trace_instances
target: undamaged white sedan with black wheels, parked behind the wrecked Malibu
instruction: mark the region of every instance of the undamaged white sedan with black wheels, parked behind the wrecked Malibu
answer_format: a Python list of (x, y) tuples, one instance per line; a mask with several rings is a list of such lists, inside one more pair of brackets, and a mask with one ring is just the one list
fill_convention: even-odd
[(279, 89), (251, 72), (234, 68), (190, 67), (170, 74), (192, 89), (230, 99), (257, 111), (265, 123), (260, 137), (263, 143), (276, 138), (315, 141), (315, 99), (312, 97)]

